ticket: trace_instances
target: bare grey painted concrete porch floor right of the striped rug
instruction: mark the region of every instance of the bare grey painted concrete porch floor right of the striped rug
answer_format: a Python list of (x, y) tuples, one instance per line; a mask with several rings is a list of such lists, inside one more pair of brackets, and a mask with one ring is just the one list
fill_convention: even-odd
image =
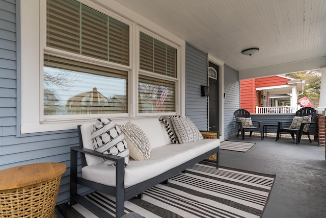
[(256, 142), (249, 151), (220, 150), (221, 166), (264, 174), (276, 174), (263, 218), (326, 217), (325, 148), (302, 138), (260, 137), (246, 134), (230, 141)]

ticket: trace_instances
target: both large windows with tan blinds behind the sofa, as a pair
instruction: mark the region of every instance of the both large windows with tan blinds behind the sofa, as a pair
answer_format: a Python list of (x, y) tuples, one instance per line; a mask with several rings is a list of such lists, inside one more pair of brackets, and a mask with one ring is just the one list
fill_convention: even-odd
[[(137, 91), (139, 113), (176, 112), (177, 49), (140, 31), (140, 69), (133, 69), (129, 29), (77, 1), (46, 1), (44, 120), (128, 114), (128, 103), (137, 102), (128, 92)], [(138, 76), (128, 78), (130, 72)], [(132, 79), (138, 87), (128, 86)]]

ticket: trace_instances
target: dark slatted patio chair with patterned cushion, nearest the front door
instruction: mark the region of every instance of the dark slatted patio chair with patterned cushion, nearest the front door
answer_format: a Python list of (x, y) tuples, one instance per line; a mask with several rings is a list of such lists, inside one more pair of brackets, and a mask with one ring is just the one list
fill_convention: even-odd
[[(245, 109), (238, 109), (234, 112), (234, 116), (236, 119), (236, 123), (238, 124), (238, 134), (236, 137), (239, 136), (239, 132), (241, 132), (241, 138), (244, 139), (244, 132), (250, 132), (249, 137), (253, 134), (253, 132), (260, 132), (261, 140), (264, 139), (263, 137), (263, 122), (262, 121), (255, 121), (252, 120), (250, 117), (250, 112)], [(257, 125), (253, 125), (253, 123), (257, 123)]]

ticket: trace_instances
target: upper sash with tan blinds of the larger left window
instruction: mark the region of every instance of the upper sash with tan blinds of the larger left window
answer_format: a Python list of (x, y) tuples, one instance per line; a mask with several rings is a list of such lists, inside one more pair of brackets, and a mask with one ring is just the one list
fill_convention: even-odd
[(47, 0), (46, 45), (129, 65), (129, 26), (73, 0)]

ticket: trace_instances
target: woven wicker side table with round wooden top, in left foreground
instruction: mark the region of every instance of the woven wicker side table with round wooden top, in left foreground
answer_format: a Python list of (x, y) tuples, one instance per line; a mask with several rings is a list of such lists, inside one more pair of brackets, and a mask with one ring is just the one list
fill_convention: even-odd
[(57, 217), (63, 163), (34, 163), (0, 171), (0, 217)]

